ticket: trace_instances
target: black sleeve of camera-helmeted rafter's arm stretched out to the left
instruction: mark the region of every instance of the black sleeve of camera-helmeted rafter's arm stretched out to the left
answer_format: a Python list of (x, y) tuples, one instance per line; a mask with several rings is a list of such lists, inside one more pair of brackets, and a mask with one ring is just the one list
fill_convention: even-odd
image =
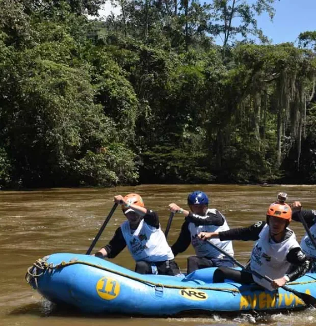
[(255, 241), (259, 239), (259, 233), (266, 225), (265, 221), (259, 221), (247, 228), (235, 228), (227, 231), (219, 232), (219, 238), (221, 241), (225, 240), (243, 240), (243, 241)]

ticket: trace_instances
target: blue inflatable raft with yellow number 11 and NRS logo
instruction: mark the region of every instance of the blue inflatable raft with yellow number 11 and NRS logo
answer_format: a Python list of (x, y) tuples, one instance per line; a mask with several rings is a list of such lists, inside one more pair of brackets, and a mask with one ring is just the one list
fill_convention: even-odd
[[(53, 254), (36, 261), (26, 276), (31, 286), (57, 304), (83, 312), (173, 316), (300, 309), (293, 293), (270, 292), (257, 285), (212, 283), (215, 268), (188, 276), (140, 275), (94, 256)], [(315, 274), (306, 274), (288, 286), (316, 296)]]

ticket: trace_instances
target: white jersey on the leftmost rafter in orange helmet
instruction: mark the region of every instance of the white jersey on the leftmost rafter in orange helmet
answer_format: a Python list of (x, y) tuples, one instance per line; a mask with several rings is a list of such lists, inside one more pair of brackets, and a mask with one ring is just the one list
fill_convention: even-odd
[(150, 226), (142, 219), (133, 234), (128, 221), (121, 224), (121, 230), (126, 245), (136, 261), (156, 262), (174, 259), (160, 227), (157, 229)]

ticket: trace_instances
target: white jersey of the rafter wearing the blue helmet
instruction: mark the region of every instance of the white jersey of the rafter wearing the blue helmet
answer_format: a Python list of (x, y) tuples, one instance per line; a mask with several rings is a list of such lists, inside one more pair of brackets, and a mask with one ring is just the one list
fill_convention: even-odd
[[(216, 214), (216, 209), (214, 208), (207, 209), (205, 216), (201, 216), (201, 218), (206, 219), (208, 213)], [(207, 258), (216, 258), (216, 259), (222, 259), (225, 257), (218, 250), (212, 247), (211, 244), (209, 244), (207, 241), (201, 240), (197, 236), (200, 232), (220, 232), (220, 231), (229, 230), (229, 226), (226, 222), (225, 216), (222, 215), (222, 217), (224, 219), (224, 224), (222, 226), (215, 226), (215, 225), (196, 226), (194, 223), (189, 223), (189, 231), (191, 233), (191, 243), (198, 257), (207, 257)], [(225, 250), (231, 256), (234, 255), (234, 251), (232, 249), (232, 242), (230, 240), (221, 241), (220, 239), (210, 239), (210, 241), (212, 241), (221, 249)]]

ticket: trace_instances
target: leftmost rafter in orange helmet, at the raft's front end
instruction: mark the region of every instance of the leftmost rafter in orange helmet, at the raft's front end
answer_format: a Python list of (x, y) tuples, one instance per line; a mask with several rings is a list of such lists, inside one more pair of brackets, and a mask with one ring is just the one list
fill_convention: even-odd
[(126, 246), (136, 261), (140, 274), (180, 275), (180, 269), (163, 233), (156, 212), (145, 208), (138, 194), (114, 197), (127, 221), (115, 231), (112, 240), (94, 255), (116, 257)]

